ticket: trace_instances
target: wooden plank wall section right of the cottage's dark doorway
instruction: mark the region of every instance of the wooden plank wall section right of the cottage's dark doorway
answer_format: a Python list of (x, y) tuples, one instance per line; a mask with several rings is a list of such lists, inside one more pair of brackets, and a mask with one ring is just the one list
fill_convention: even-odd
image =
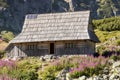
[[(76, 46), (73, 48), (65, 48), (65, 43), (74, 43)], [(57, 42), (55, 52), (57, 55), (93, 54), (95, 52), (95, 43), (92, 41)]]

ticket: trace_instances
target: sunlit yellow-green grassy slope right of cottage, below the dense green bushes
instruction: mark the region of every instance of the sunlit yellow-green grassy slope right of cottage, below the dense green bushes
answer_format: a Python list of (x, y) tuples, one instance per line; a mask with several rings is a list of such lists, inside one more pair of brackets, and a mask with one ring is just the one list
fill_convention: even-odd
[(101, 41), (101, 43), (96, 45), (97, 53), (102, 55), (108, 55), (108, 53), (119, 54), (120, 49), (118, 46), (120, 45), (120, 31), (108, 32), (96, 29), (95, 33)]

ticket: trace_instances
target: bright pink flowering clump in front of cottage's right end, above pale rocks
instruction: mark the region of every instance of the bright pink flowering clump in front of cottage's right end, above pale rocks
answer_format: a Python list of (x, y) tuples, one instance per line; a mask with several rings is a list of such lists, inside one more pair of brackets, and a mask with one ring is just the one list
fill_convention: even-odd
[(70, 70), (70, 76), (72, 78), (78, 78), (82, 75), (88, 77), (93, 76), (94, 74), (98, 75), (99, 71), (103, 69), (107, 62), (107, 59), (104, 57), (84, 57), (82, 61), (79, 61), (79, 66), (74, 67)]

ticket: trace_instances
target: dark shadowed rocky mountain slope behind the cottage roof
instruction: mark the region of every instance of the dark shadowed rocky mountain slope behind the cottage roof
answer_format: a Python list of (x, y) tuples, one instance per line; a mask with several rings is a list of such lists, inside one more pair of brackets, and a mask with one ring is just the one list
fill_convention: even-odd
[(19, 33), (26, 14), (91, 10), (95, 19), (120, 14), (119, 0), (0, 0), (0, 30)]

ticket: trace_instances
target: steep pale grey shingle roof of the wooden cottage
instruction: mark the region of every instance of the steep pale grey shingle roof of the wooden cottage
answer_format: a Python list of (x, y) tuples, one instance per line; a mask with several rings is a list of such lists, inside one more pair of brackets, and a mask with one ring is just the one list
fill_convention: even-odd
[(98, 42), (88, 30), (89, 18), (90, 11), (29, 14), (22, 32), (11, 43), (86, 39)]

